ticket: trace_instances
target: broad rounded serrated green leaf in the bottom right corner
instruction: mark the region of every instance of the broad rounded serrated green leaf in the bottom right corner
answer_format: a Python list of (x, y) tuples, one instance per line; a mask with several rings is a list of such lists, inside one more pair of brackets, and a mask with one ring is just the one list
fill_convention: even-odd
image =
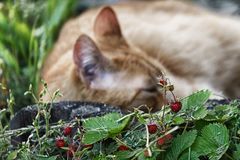
[(210, 160), (218, 160), (229, 147), (228, 129), (223, 124), (209, 124), (193, 144), (193, 151), (206, 155)]

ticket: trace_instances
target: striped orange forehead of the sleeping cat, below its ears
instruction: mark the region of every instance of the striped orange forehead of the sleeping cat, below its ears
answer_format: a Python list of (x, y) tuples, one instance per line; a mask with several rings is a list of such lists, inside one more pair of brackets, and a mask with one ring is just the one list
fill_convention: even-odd
[(121, 44), (111, 45), (107, 42), (96, 41), (101, 53), (117, 67), (132, 74), (161, 75), (160, 67), (154, 63), (148, 53), (132, 45)]

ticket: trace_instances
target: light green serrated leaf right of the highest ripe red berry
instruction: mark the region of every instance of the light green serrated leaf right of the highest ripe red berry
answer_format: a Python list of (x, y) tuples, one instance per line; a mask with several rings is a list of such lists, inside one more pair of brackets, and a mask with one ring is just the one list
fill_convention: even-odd
[(211, 92), (208, 90), (201, 90), (191, 94), (188, 97), (185, 97), (181, 100), (182, 102), (182, 110), (185, 111), (187, 109), (195, 109), (196, 107), (201, 107), (204, 103), (207, 102), (211, 95)]

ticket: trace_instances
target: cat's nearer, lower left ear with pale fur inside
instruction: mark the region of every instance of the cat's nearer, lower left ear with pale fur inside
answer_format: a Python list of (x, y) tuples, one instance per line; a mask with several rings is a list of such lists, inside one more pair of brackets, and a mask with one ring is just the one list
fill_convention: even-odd
[(109, 60), (101, 54), (96, 44), (87, 35), (81, 35), (76, 41), (73, 60), (79, 78), (88, 87), (99, 89), (102, 86), (101, 83), (106, 83), (102, 82), (101, 78), (108, 74)]

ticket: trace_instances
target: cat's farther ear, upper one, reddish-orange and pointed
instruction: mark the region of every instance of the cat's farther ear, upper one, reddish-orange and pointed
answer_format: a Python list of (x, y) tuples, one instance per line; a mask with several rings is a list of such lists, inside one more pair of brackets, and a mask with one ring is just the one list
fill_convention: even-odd
[(94, 23), (94, 33), (97, 37), (122, 37), (117, 16), (111, 7), (104, 7), (99, 12)]

